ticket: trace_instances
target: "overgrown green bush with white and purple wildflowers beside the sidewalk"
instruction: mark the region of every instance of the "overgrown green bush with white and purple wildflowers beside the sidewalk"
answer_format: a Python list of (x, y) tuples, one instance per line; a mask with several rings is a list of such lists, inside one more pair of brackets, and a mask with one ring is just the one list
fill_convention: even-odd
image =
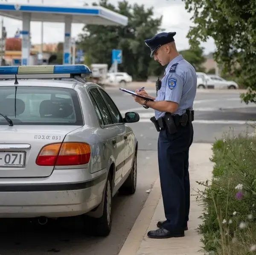
[(198, 193), (204, 205), (204, 252), (256, 254), (256, 139), (225, 137), (212, 146), (213, 177)]

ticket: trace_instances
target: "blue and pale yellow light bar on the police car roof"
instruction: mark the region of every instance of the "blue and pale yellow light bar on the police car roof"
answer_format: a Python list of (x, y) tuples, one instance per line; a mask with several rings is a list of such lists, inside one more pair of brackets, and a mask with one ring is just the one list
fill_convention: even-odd
[(34, 74), (91, 74), (86, 65), (46, 65), (46, 66), (7, 66), (0, 67), (0, 75), (34, 75)]

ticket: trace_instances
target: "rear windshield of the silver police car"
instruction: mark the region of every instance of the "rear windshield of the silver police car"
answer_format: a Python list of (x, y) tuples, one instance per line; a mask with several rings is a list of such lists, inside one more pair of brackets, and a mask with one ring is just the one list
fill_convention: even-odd
[[(0, 113), (13, 125), (83, 125), (75, 90), (55, 87), (0, 87)], [(16, 94), (16, 95), (15, 95)], [(0, 125), (8, 122), (0, 116)]]

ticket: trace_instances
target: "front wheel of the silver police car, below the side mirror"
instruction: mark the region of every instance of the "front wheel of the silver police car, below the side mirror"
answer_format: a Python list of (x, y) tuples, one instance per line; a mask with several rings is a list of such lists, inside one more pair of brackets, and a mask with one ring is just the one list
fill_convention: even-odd
[(131, 195), (134, 194), (137, 187), (137, 151), (134, 154), (133, 166), (131, 168), (131, 173), (129, 174), (125, 183), (119, 188), (119, 194), (121, 195)]

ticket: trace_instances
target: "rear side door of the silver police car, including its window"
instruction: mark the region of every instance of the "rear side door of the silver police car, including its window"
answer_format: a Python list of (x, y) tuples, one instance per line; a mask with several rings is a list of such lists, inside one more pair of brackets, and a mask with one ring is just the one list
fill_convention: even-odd
[(91, 88), (89, 95), (93, 101), (94, 108), (99, 117), (102, 126), (101, 135), (106, 140), (108, 155), (113, 155), (116, 163), (115, 185), (117, 185), (122, 177), (124, 165), (124, 135), (120, 128), (114, 123), (109, 107), (107, 106), (102, 94), (98, 88)]

